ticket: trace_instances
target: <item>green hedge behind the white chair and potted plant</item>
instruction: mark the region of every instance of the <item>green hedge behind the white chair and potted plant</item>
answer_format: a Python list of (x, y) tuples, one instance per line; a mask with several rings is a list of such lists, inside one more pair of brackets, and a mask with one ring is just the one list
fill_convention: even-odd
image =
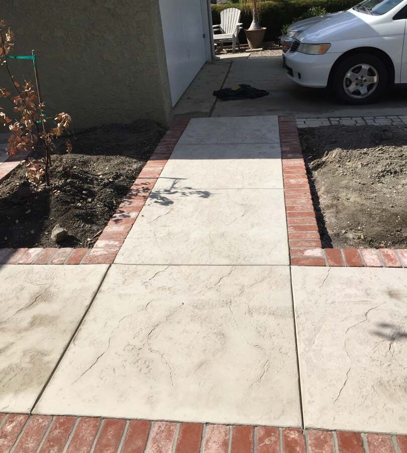
[[(275, 41), (281, 35), (281, 28), (285, 24), (291, 24), (296, 18), (302, 16), (312, 7), (325, 8), (329, 13), (348, 10), (356, 5), (356, 0), (271, 0), (262, 2), (260, 24), (267, 27), (264, 41)], [(221, 11), (226, 8), (239, 8), (236, 5), (212, 5), (212, 20), (214, 25), (221, 23)], [(250, 13), (242, 12), (241, 22), (244, 28), (248, 28), (252, 22)], [(240, 42), (244, 42), (242, 32)]]

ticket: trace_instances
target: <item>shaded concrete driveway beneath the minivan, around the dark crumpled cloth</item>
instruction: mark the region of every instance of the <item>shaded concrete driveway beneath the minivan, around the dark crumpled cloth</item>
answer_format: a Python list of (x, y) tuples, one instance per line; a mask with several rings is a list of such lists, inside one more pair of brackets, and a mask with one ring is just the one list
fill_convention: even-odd
[[(214, 90), (249, 84), (267, 90), (269, 96), (242, 101), (218, 101)], [(404, 115), (407, 90), (388, 92), (380, 102), (368, 106), (341, 105), (327, 90), (304, 88), (290, 81), (281, 56), (256, 57), (240, 54), (207, 63), (175, 106), (176, 116), (295, 115), (297, 117), (361, 117)]]

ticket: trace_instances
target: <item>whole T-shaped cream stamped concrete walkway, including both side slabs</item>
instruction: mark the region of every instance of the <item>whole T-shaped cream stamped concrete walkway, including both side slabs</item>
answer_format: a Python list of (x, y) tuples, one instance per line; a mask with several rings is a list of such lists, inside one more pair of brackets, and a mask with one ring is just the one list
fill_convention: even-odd
[(407, 270), (289, 266), (281, 173), (193, 119), (113, 265), (1, 266), (0, 412), (407, 434)]

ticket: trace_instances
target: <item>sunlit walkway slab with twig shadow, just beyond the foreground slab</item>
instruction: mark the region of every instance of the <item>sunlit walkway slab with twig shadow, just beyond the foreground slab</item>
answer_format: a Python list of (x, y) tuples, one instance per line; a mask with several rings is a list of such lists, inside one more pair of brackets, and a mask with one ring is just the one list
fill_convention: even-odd
[(287, 265), (283, 190), (153, 190), (115, 262)]

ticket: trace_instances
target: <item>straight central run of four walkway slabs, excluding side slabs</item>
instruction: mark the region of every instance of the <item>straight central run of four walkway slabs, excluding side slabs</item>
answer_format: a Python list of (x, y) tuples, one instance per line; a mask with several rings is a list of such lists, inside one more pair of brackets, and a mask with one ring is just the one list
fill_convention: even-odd
[(281, 175), (277, 117), (192, 120), (35, 412), (300, 426)]

